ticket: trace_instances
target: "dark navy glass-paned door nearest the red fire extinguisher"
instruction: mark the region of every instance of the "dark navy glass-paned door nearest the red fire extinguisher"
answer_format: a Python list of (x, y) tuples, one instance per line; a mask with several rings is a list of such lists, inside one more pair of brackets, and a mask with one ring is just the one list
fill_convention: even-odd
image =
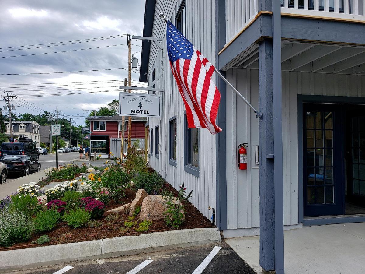
[(304, 216), (344, 214), (341, 108), (303, 104)]

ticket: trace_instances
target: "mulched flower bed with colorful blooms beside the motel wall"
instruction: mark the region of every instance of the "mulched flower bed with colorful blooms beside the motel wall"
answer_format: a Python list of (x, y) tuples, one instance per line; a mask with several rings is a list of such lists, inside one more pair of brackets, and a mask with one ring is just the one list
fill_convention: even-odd
[[(1, 201), (0, 220), (3, 222), (0, 224), (0, 234), (15, 236), (0, 239), (0, 251), (213, 227), (188, 201), (192, 193), (185, 194), (184, 184), (176, 191), (156, 172), (147, 170), (141, 164), (135, 168), (138, 172), (132, 170), (136, 165), (128, 163), (128, 160), (124, 166), (118, 159), (107, 160), (105, 164), (107, 167), (103, 174), (90, 174), (87, 178), (68, 180), (47, 189), (44, 193), (47, 203), (37, 199), (43, 193), (36, 183), (21, 186), (15, 195)], [(141, 221), (141, 206), (134, 207), (131, 213), (129, 209), (119, 213), (107, 212), (133, 201), (139, 188), (145, 189), (148, 194), (163, 195), (166, 209), (163, 218)], [(79, 192), (81, 189), (82, 192)], [(143, 197), (146, 196), (147, 193)], [(19, 222), (11, 221), (16, 219)]]

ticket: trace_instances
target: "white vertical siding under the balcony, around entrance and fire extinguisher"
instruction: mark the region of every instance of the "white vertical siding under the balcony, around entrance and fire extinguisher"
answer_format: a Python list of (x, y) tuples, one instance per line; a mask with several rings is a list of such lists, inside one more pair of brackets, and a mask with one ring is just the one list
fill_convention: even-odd
[[(227, 77), (254, 107), (258, 106), (258, 70), (230, 69)], [(259, 169), (252, 167), (251, 159), (253, 145), (258, 144), (258, 120), (230, 91), (227, 87), (227, 228), (254, 228), (260, 225)], [(298, 94), (365, 97), (365, 76), (283, 72), (284, 225), (295, 225), (299, 220)], [(237, 146), (243, 142), (249, 145), (247, 171), (237, 168)]]

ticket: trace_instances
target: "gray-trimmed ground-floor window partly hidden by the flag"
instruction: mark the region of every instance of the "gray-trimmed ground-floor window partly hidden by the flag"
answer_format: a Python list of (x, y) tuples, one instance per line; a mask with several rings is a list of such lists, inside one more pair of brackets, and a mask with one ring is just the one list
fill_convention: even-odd
[(184, 114), (185, 120), (185, 146), (184, 170), (190, 172), (195, 176), (199, 176), (199, 129), (188, 128), (188, 120)]

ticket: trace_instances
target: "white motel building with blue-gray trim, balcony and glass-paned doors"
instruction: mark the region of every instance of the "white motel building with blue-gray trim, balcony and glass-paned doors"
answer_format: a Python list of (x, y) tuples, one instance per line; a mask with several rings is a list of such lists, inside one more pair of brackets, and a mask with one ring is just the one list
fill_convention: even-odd
[[(162, 74), (155, 83), (162, 114), (146, 124), (150, 165), (176, 189), (184, 182), (193, 190), (204, 216), (214, 208), (224, 237), (259, 233), (260, 198), (270, 215), (278, 180), (285, 229), (365, 221), (364, 0), (281, 3), (276, 28), (271, 1), (146, 0), (143, 36), (164, 39), (163, 52), (150, 41), (142, 46), (140, 80)], [(262, 122), (213, 75), (223, 131), (187, 128), (160, 12), (262, 112)], [(241, 143), (247, 170), (238, 169)]]

